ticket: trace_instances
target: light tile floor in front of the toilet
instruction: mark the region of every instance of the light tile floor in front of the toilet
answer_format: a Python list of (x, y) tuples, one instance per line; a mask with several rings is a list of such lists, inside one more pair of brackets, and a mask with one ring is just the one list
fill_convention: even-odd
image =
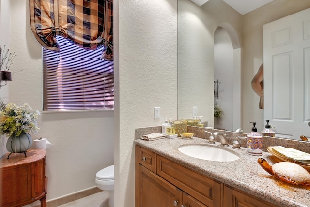
[(108, 207), (108, 198), (109, 193), (102, 191), (58, 207)]

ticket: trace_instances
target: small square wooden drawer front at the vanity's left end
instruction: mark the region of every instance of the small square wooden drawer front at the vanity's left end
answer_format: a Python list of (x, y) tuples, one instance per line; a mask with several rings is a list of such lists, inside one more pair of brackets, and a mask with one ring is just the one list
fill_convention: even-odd
[(147, 169), (156, 173), (156, 153), (152, 152), (146, 148), (136, 146), (138, 162), (142, 164)]

